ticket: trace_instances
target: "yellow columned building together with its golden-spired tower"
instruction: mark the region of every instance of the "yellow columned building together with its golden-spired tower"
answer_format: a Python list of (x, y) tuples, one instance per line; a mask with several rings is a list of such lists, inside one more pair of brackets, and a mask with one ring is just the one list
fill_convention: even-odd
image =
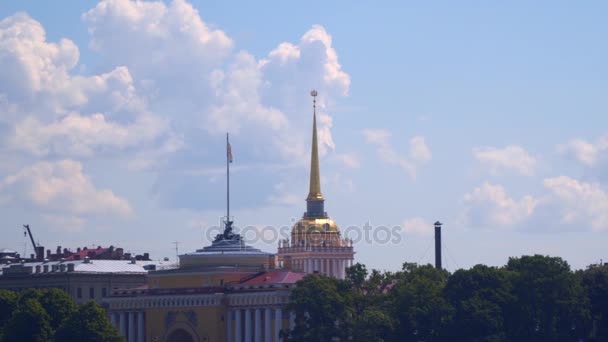
[(294, 325), (287, 304), (298, 280), (307, 273), (344, 277), (354, 252), (324, 211), (313, 112), (307, 210), (291, 241), (280, 241), (276, 255), (262, 252), (233, 233), (227, 219), (211, 246), (180, 255), (178, 269), (150, 272), (146, 286), (115, 291), (105, 301), (129, 342), (279, 341), (280, 331)]

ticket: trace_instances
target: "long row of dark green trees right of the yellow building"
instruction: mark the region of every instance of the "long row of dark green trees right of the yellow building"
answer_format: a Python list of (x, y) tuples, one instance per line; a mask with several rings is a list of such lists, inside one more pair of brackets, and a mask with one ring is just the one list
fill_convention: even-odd
[(608, 265), (573, 272), (557, 257), (451, 274), (356, 264), (345, 280), (306, 276), (291, 299), (289, 341), (608, 341)]

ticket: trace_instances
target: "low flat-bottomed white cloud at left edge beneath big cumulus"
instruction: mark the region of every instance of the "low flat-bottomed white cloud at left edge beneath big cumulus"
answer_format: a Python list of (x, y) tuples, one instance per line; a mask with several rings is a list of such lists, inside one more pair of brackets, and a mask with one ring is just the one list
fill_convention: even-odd
[(26, 203), (38, 209), (73, 215), (129, 216), (127, 200), (97, 189), (73, 160), (38, 162), (0, 182), (4, 203)]

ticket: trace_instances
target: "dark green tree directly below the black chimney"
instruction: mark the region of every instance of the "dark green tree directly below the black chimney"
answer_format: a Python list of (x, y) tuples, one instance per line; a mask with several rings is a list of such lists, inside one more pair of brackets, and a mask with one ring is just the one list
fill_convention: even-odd
[(449, 273), (431, 265), (405, 263), (390, 291), (390, 314), (396, 341), (438, 341), (450, 320), (451, 308), (442, 296)]

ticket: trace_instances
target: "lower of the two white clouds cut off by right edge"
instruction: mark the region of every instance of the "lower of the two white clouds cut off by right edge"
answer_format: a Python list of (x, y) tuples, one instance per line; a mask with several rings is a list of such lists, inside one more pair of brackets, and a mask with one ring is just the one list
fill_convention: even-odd
[(599, 184), (579, 182), (566, 176), (547, 178), (543, 184), (550, 201), (560, 208), (560, 223), (583, 230), (608, 230), (608, 193)]

